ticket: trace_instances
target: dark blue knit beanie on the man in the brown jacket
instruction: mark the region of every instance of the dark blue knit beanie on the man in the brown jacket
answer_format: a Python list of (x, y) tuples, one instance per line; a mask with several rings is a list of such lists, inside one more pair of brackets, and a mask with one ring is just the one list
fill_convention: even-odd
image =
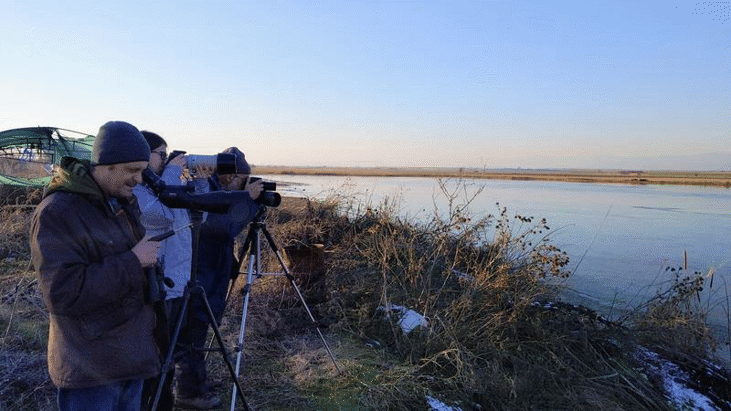
[(110, 121), (99, 128), (91, 151), (92, 164), (150, 161), (150, 146), (135, 126)]

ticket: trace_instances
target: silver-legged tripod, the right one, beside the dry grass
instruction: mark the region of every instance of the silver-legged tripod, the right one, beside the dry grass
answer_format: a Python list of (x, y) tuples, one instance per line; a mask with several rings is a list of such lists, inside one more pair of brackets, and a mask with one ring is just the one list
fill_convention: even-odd
[[(332, 359), (333, 364), (335, 365), (335, 369), (340, 373), (340, 368), (338, 367), (338, 363), (335, 361), (335, 357), (332, 354), (332, 351), (330, 351), (330, 347), (327, 345), (327, 342), (325, 341), (325, 337), (322, 336), (322, 332), (320, 331), (320, 328), (317, 327), (317, 321), (315, 320), (315, 317), (312, 315), (312, 312), (310, 311), (310, 308), (307, 306), (307, 303), (305, 302), (305, 298), (302, 296), (302, 292), (300, 292), (299, 287), (297, 287), (297, 283), (294, 281), (294, 277), (289, 272), (289, 269), (287, 269), (287, 265), (284, 263), (284, 260), (282, 259), (282, 254), (279, 251), (279, 248), (274, 243), (274, 240), (272, 239), (271, 234), (269, 234), (269, 230), (267, 230), (266, 225), (263, 223), (263, 216), (266, 211), (266, 207), (261, 206), (259, 212), (257, 213), (256, 217), (254, 218), (254, 221), (251, 222), (249, 226), (249, 233), (246, 236), (246, 241), (244, 242), (244, 246), (242, 247), (241, 255), (243, 257), (243, 253), (246, 252), (246, 250), (249, 250), (249, 265), (248, 269), (246, 270), (246, 285), (242, 289), (242, 294), (244, 295), (244, 304), (243, 304), (243, 314), (241, 316), (241, 328), (239, 330), (239, 338), (236, 344), (236, 377), (234, 378), (234, 381), (236, 381), (236, 386), (233, 387), (233, 392), (231, 393), (231, 411), (234, 411), (234, 408), (236, 407), (236, 393), (237, 389), (240, 390), (241, 388), (238, 386), (238, 378), (239, 375), (239, 367), (241, 366), (241, 355), (244, 351), (244, 336), (246, 332), (246, 313), (249, 308), (249, 295), (251, 293), (251, 286), (253, 285), (254, 277), (261, 278), (264, 274), (261, 272), (261, 243), (259, 241), (259, 234), (264, 233), (264, 237), (267, 239), (267, 242), (269, 243), (269, 247), (275, 252), (277, 256), (277, 260), (279, 260), (279, 264), (282, 266), (282, 270), (284, 271), (284, 275), (287, 277), (287, 280), (289, 280), (289, 283), (294, 288), (295, 292), (297, 293), (297, 296), (299, 297), (300, 301), (302, 302), (302, 305), (305, 308), (305, 311), (307, 311), (307, 315), (310, 317), (310, 320), (315, 325), (315, 329), (317, 330), (317, 334), (320, 336), (320, 340), (322, 340), (322, 344), (325, 346), (325, 349), (327, 350), (328, 355), (330, 356), (330, 359)], [(243, 262), (242, 258), (239, 258), (239, 261)], [(278, 273), (275, 274), (268, 274), (268, 275), (278, 275)]]

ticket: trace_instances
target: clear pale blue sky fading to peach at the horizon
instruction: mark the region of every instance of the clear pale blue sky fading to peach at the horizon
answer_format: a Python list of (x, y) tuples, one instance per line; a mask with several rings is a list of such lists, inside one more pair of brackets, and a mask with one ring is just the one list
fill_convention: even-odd
[(5, 0), (0, 130), (254, 165), (731, 170), (731, 2)]

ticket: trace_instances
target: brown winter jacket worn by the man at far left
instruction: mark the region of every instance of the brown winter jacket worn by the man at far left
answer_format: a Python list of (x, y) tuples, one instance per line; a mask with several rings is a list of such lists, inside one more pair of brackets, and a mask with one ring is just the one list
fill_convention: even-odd
[(31, 222), (31, 258), (50, 312), (48, 369), (61, 388), (159, 372), (155, 313), (132, 247), (144, 235), (136, 201), (117, 211), (88, 163), (64, 158)]

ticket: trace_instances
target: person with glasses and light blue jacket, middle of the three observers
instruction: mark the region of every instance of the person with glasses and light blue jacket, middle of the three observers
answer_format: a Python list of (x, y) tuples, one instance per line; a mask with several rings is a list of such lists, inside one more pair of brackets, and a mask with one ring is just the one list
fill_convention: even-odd
[[(168, 146), (165, 139), (150, 131), (143, 130), (141, 133), (150, 146), (150, 162), (148, 165), (150, 170), (157, 174), (168, 186), (187, 184), (190, 173), (186, 173), (185, 170), (185, 157), (178, 155), (168, 159)], [(196, 178), (193, 179), (196, 194), (207, 191), (207, 178), (212, 173), (213, 170), (209, 167), (199, 167), (196, 170)], [(175, 235), (162, 241), (157, 267), (173, 283), (172, 286), (165, 285), (165, 301), (162, 307), (158, 307), (158, 312), (165, 316), (165, 322), (167, 324), (167, 329), (162, 332), (164, 336), (160, 338), (158, 343), (162, 345), (160, 349), (165, 353), (169, 348), (167, 345), (169, 345), (169, 341), (175, 331), (175, 325), (177, 324), (183, 304), (185, 285), (191, 275), (193, 257), (191, 219), (188, 209), (170, 208), (166, 206), (160, 201), (152, 188), (144, 183), (136, 186), (134, 192), (140, 204), (142, 224), (145, 226), (149, 235), (155, 236), (170, 230), (176, 230)], [(177, 346), (184, 347), (189, 345), (187, 343), (187, 337), (187, 325), (186, 322), (183, 322), (183, 328), (179, 334)], [(185, 365), (187, 356), (176, 355), (175, 357), (177, 361), (175, 364), (174, 378), (177, 380), (178, 385), (188, 385), (185, 379), (190, 376), (190, 373), (183, 371), (189, 368)], [(158, 381), (159, 376), (147, 381), (145, 394), (148, 401), (152, 401), (154, 398)], [(172, 409), (173, 402), (178, 406), (194, 409), (216, 408), (221, 404), (218, 398), (198, 396), (180, 389), (173, 395), (172, 381), (173, 373), (170, 373), (163, 387), (163, 395), (161, 396), (158, 410)]]

